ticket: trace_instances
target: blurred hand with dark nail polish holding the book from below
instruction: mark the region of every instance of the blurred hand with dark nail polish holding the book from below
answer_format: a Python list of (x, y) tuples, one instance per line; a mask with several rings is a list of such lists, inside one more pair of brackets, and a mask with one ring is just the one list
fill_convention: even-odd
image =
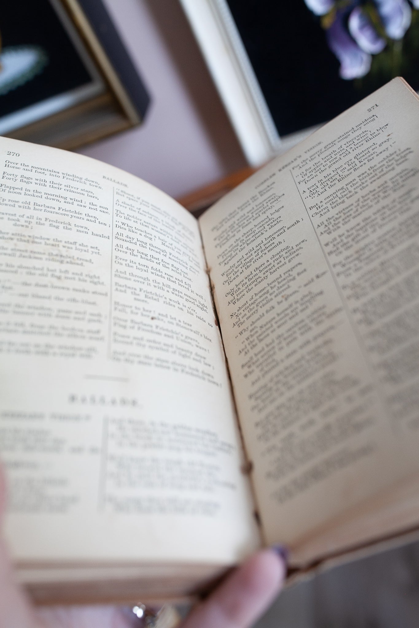
[[(0, 469), (0, 521), (5, 505)], [(273, 550), (259, 551), (237, 568), (210, 597), (199, 604), (182, 628), (248, 628), (280, 591), (285, 562)], [(141, 628), (130, 609), (70, 607), (33, 609), (14, 582), (6, 544), (0, 535), (0, 628)]]

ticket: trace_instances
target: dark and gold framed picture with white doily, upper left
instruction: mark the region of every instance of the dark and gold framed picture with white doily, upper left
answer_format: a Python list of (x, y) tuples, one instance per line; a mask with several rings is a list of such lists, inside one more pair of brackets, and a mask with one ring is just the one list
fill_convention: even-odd
[(101, 0), (0, 7), (0, 135), (75, 149), (141, 124), (150, 97)]

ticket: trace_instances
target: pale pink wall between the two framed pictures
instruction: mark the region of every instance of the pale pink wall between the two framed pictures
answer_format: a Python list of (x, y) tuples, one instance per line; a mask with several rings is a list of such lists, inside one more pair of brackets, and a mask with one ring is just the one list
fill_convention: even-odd
[(179, 196), (246, 165), (177, 0), (105, 0), (151, 94), (143, 126), (80, 149)]

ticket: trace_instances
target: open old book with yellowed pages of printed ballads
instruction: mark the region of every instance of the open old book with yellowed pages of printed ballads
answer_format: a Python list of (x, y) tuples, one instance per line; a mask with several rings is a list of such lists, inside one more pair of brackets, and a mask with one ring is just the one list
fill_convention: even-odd
[(305, 570), (415, 536), (418, 146), (395, 79), (197, 221), (1, 139), (0, 457), (36, 601), (176, 598), (262, 545)]

